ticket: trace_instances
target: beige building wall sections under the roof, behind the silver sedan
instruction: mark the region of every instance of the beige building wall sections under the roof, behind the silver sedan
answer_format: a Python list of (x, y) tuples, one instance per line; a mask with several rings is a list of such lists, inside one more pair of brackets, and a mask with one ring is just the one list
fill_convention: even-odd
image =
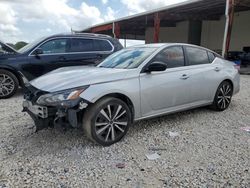
[[(219, 21), (203, 21), (201, 46), (212, 50), (222, 50), (225, 30), (225, 18)], [(189, 22), (177, 23), (176, 27), (162, 27), (160, 42), (188, 42)], [(146, 43), (153, 42), (154, 29), (146, 30)], [(250, 11), (235, 13), (231, 36), (230, 50), (242, 50), (243, 46), (250, 46)]]

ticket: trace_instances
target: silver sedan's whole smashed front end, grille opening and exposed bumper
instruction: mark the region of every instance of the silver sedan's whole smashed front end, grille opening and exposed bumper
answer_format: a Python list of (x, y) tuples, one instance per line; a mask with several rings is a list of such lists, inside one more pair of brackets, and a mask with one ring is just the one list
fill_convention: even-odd
[(54, 126), (80, 127), (79, 122), (82, 122), (84, 109), (87, 108), (89, 102), (76, 97), (73, 100), (64, 100), (51, 105), (38, 103), (39, 98), (47, 94), (49, 93), (30, 84), (27, 84), (24, 89), (23, 112), (27, 112), (34, 120), (36, 130)]

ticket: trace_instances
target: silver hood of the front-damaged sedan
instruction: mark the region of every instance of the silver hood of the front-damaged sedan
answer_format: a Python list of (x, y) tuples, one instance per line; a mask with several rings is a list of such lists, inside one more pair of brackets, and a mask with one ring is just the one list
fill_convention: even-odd
[(45, 74), (30, 84), (37, 89), (56, 92), (75, 87), (124, 79), (129, 70), (90, 66), (64, 67)]

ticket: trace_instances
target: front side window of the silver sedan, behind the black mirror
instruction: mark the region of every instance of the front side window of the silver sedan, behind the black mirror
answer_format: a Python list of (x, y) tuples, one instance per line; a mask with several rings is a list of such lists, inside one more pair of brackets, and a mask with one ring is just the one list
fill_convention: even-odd
[(184, 66), (183, 49), (180, 46), (169, 47), (157, 54), (153, 61), (159, 61), (167, 64), (167, 68)]

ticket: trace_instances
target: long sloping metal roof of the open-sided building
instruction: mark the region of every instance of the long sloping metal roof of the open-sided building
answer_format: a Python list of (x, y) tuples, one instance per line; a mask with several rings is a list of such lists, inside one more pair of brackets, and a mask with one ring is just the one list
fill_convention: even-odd
[[(219, 20), (225, 14), (226, 0), (189, 0), (148, 12), (94, 25), (80, 32), (113, 35), (113, 24), (119, 26), (121, 38), (145, 39), (147, 27), (154, 27), (155, 14), (159, 14), (161, 27), (175, 27), (185, 20)], [(236, 0), (235, 11), (250, 10), (250, 0)], [(117, 32), (117, 31), (116, 31)]]

